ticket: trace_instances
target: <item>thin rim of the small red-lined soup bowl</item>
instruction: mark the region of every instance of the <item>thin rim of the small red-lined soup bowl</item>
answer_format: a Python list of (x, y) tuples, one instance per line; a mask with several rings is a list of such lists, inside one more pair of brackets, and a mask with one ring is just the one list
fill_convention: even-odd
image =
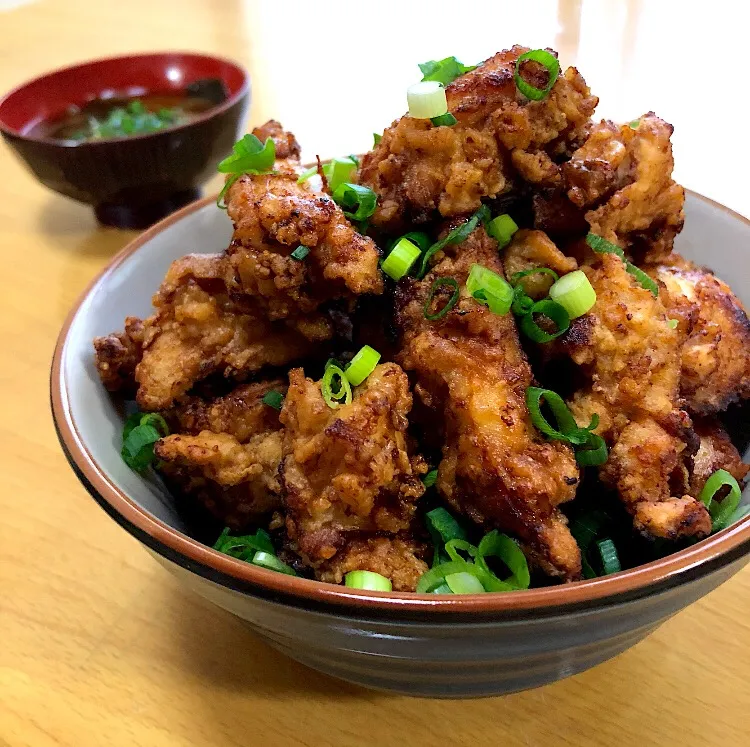
[[(74, 140), (58, 140), (57, 138), (50, 138), (50, 137), (36, 137), (33, 135), (25, 135), (24, 133), (13, 129), (12, 127), (8, 127), (2, 120), (0, 120), (0, 132), (5, 133), (8, 136), (18, 138), (20, 140), (30, 140), (35, 143), (50, 143), (54, 145), (59, 145), (63, 148), (78, 148), (81, 145), (86, 146), (103, 146), (108, 145), (109, 143), (119, 143), (119, 142), (132, 142), (135, 140), (143, 140), (145, 138), (153, 138), (158, 137), (159, 135), (165, 135), (167, 133), (172, 132), (179, 132), (180, 130), (185, 130), (188, 127), (192, 127), (195, 124), (198, 124), (199, 122), (205, 122), (208, 119), (212, 119), (217, 114), (222, 114), (223, 112), (227, 111), (228, 109), (231, 109), (232, 106), (234, 106), (238, 101), (242, 99), (243, 96), (246, 96), (248, 91), (250, 90), (250, 76), (247, 74), (247, 71), (245, 68), (243, 68), (241, 65), (239, 65), (234, 60), (230, 60), (228, 57), (221, 57), (219, 55), (215, 54), (205, 54), (203, 52), (188, 52), (185, 50), (171, 50), (171, 51), (156, 51), (156, 52), (135, 52), (134, 54), (116, 54), (112, 55), (111, 57), (95, 57), (93, 60), (84, 60), (83, 62), (77, 62), (75, 65), (65, 65), (63, 67), (55, 68), (54, 70), (48, 70), (46, 73), (43, 73), (42, 75), (37, 75), (36, 78), (30, 78), (27, 81), (24, 81), (20, 85), (16, 86), (12, 90), (8, 91), (2, 98), (0, 98), (0, 106), (5, 102), (6, 99), (9, 99), (14, 94), (18, 93), (19, 91), (22, 91), (27, 86), (30, 86), (32, 83), (37, 83), (38, 81), (44, 80), (45, 78), (48, 78), (50, 75), (53, 75), (55, 73), (61, 73), (66, 70), (75, 70), (79, 67), (87, 67), (89, 65), (95, 65), (97, 62), (110, 62), (112, 60), (130, 60), (135, 57), (153, 57), (154, 55), (189, 55), (191, 57), (205, 57), (207, 60), (217, 60), (218, 62), (221, 62), (225, 65), (230, 65), (233, 68), (236, 68), (240, 71), (242, 74), (242, 86), (241, 88), (236, 92), (233, 93), (231, 96), (227, 97), (226, 101), (222, 101), (220, 104), (216, 104), (216, 106), (212, 106), (210, 109), (206, 109), (206, 111), (201, 112), (200, 114), (197, 114), (195, 117), (191, 117), (188, 122), (184, 122), (180, 125), (175, 125), (174, 127), (167, 127), (163, 130), (157, 130), (156, 132), (147, 132), (143, 135), (128, 135), (127, 137), (112, 137), (112, 138), (105, 138), (103, 140), (86, 140), (83, 143), (79, 143)], [(154, 227), (160, 225), (159, 223), (156, 223)], [(127, 249), (127, 247), (125, 247)]]

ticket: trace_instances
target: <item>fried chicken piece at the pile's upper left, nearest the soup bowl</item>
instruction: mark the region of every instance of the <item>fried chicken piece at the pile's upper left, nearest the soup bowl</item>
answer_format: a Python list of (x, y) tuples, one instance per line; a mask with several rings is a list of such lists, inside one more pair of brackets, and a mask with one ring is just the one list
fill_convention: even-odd
[[(270, 131), (277, 142), (293, 139), (276, 127)], [(333, 326), (321, 306), (337, 299), (352, 305), (356, 296), (383, 292), (379, 253), (330, 197), (297, 183), (289, 164), (299, 158), (298, 147), (282, 154), (285, 165), (275, 173), (245, 174), (228, 191), (234, 237), (227, 283), (253, 296), (269, 319), (286, 319), (309, 339), (324, 340)], [(303, 260), (291, 256), (300, 245), (309, 249)]]

